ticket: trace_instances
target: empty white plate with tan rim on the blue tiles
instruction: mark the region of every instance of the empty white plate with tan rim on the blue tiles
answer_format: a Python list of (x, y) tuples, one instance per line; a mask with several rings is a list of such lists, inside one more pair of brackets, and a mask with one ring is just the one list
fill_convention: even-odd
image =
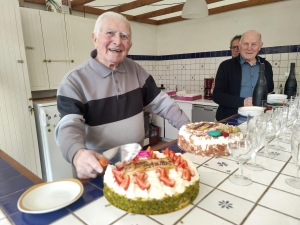
[(48, 213), (75, 202), (83, 193), (77, 179), (65, 179), (37, 184), (26, 190), (18, 201), (21, 212)]

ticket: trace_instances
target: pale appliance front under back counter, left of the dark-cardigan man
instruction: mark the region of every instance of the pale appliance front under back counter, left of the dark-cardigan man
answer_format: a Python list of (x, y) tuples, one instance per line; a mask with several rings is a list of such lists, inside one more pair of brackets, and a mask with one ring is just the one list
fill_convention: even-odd
[(196, 105), (192, 108), (192, 122), (215, 122), (218, 106)]

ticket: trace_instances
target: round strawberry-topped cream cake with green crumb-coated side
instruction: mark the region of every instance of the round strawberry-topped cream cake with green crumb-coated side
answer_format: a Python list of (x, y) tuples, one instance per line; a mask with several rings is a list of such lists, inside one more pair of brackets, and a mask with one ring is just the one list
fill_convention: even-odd
[(104, 196), (114, 206), (136, 214), (169, 213), (191, 204), (199, 193), (199, 173), (180, 153), (151, 147), (126, 165), (108, 165)]

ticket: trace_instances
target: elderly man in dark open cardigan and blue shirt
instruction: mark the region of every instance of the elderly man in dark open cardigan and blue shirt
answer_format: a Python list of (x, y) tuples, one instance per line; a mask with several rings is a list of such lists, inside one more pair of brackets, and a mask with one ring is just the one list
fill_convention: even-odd
[(252, 105), (252, 94), (258, 79), (260, 63), (265, 64), (268, 92), (273, 91), (272, 66), (258, 56), (262, 46), (260, 33), (254, 30), (247, 31), (239, 43), (240, 55), (220, 64), (213, 92), (213, 100), (219, 104), (216, 120), (236, 114), (239, 107)]

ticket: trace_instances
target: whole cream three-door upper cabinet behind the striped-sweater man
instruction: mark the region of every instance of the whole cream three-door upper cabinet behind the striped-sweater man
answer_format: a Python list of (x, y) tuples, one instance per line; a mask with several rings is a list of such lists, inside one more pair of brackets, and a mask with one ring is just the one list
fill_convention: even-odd
[(63, 76), (89, 58), (94, 20), (20, 8), (32, 91), (57, 89)]

